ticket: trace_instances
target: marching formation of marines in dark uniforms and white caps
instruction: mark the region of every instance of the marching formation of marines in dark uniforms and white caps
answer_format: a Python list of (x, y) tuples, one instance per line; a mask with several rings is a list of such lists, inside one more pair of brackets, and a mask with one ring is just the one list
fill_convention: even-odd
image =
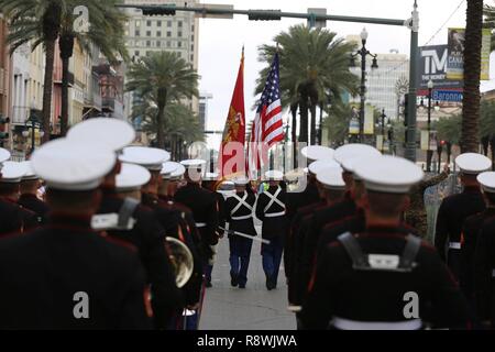
[(299, 329), (495, 326), (485, 156), (457, 157), (463, 191), (443, 199), (429, 244), (424, 217), (408, 212), (411, 189), (447, 168), (426, 179), (369, 145), (307, 146), (302, 191), (276, 169), (257, 188), (134, 138), (127, 122), (96, 118), (28, 162), (0, 148), (0, 329), (198, 329), (222, 239), (232, 287), (249, 285), (253, 241), (267, 290), (283, 263)]

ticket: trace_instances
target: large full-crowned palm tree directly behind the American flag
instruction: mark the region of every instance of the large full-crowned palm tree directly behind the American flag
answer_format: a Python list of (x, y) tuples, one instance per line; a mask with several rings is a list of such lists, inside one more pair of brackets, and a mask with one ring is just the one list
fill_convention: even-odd
[[(337, 34), (326, 29), (309, 29), (294, 25), (288, 32), (275, 36), (280, 58), (280, 90), (285, 107), (297, 102), (300, 113), (299, 142), (316, 141), (316, 110), (319, 105), (341, 99), (344, 92), (358, 91), (358, 77), (349, 70), (349, 53), (354, 44), (337, 38)], [(270, 63), (276, 47), (262, 45), (260, 61)], [(267, 69), (260, 73), (256, 92), (263, 90)], [(311, 134), (308, 139), (308, 110), (311, 112)], [(293, 109), (293, 113), (294, 113)]]

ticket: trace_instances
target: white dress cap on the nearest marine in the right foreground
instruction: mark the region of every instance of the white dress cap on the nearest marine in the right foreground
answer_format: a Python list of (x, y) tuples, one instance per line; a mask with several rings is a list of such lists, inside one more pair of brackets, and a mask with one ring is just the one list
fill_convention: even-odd
[(364, 180), (366, 189), (386, 194), (407, 194), (424, 177), (415, 163), (389, 155), (363, 160), (354, 173)]

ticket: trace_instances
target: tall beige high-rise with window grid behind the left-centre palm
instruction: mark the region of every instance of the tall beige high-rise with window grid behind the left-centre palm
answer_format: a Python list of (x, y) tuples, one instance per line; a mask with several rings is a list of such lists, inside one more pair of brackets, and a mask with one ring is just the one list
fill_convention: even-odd
[[(197, 0), (125, 0), (129, 4), (176, 4), (195, 6)], [(177, 11), (175, 15), (143, 15), (139, 9), (125, 9), (129, 21), (125, 24), (125, 44), (131, 57), (142, 57), (153, 52), (175, 52), (198, 69), (198, 26), (199, 20), (193, 12)], [(125, 116), (131, 113), (134, 100), (125, 98)], [(186, 102), (193, 111), (198, 112), (198, 99)]]

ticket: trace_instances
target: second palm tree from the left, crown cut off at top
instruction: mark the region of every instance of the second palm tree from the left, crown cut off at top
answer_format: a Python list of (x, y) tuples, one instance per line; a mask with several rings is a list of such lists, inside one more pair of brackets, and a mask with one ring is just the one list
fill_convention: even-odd
[[(77, 42), (81, 48), (92, 53), (95, 45), (111, 63), (119, 58), (128, 59), (124, 44), (124, 25), (127, 15), (116, 8), (121, 0), (86, 0), (90, 28), (88, 33), (74, 31), (74, 9), (80, 6), (80, 0), (64, 0), (62, 13), (61, 37), (58, 41), (62, 58), (62, 111), (61, 133), (65, 135), (68, 122), (68, 84), (69, 61), (74, 54), (74, 44)], [(120, 57), (119, 57), (119, 56)]]

